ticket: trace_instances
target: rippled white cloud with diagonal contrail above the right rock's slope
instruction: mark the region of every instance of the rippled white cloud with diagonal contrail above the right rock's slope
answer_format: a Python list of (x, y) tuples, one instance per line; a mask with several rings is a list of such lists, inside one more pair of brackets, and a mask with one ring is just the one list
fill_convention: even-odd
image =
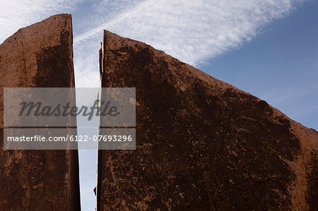
[[(75, 37), (75, 42), (107, 29), (196, 65), (239, 47), (256, 36), (266, 23), (287, 16), (298, 3), (298, 0), (148, 0), (113, 14), (112, 20), (99, 8), (96, 20), (105, 22)], [(117, 7), (123, 6), (117, 4)]]

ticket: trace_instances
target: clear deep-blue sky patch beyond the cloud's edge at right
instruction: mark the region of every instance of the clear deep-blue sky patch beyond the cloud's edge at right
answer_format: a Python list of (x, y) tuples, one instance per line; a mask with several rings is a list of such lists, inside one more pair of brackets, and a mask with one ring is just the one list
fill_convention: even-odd
[(197, 66), (318, 130), (318, 1), (273, 21), (240, 48)]

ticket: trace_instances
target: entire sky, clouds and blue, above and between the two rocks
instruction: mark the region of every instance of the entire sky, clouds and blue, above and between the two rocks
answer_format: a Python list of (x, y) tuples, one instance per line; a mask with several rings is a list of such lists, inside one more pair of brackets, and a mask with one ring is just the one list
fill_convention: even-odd
[[(77, 87), (98, 87), (106, 29), (151, 44), (317, 130), (317, 11), (312, 0), (3, 0), (0, 42), (18, 28), (71, 13)], [(95, 150), (81, 150), (80, 165), (82, 209), (94, 210)]]

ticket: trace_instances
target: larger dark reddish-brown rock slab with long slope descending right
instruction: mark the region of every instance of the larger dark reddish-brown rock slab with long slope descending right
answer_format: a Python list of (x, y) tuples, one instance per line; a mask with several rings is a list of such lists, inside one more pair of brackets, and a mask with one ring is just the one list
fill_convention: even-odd
[(98, 210), (317, 210), (318, 133), (105, 31), (103, 88), (136, 88), (136, 150), (98, 152)]

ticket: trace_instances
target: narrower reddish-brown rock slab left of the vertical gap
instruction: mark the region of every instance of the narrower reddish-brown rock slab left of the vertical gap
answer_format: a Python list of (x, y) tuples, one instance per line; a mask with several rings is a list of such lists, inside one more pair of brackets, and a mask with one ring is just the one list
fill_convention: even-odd
[(3, 150), (4, 88), (74, 87), (71, 15), (18, 30), (0, 45), (0, 210), (80, 210), (76, 150)]

